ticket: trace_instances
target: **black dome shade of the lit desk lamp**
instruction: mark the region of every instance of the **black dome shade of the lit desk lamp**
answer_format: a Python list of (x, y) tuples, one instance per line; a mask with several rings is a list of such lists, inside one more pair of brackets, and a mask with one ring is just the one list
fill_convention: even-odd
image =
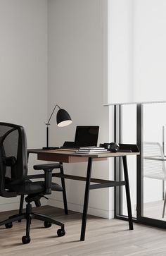
[(56, 122), (58, 127), (68, 126), (72, 123), (72, 118), (65, 109), (59, 109), (56, 114)]

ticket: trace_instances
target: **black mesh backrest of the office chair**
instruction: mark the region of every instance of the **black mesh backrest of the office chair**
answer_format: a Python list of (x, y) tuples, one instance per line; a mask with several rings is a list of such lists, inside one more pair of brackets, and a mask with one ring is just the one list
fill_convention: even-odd
[(0, 193), (7, 196), (5, 183), (18, 184), (27, 176), (27, 142), (22, 126), (0, 123)]

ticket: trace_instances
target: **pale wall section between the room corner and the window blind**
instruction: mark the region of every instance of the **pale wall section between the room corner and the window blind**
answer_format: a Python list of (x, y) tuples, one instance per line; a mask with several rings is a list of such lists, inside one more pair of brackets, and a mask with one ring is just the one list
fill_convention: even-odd
[[(103, 0), (48, 1), (48, 109), (59, 104), (73, 123), (57, 128), (51, 120), (51, 145), (74, 140), (75, 126), (99, 125), (98, 142), (108, 141), (108, 108), (103, 106)], [(84, 176), (87, 164), (65, 164), (65, 173)], [(108, 178), (108, 161), (94, 164), (94, 177)], [(69, 209), (82, 211), (84, 183), (66, 181)], [(63, 207), (61, 193), (52, 205)], [(113, 209), (112, 209), (113, 210)], [(89, 213), (109, 217), (108, 189), (91, 190)]]

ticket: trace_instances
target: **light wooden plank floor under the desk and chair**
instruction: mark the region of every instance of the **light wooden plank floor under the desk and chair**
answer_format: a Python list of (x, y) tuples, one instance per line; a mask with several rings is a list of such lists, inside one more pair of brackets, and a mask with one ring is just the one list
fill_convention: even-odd
[[(50, 214), (62, 221), (66, 235), (58, 237), (57, 226), (44, 228), (41, 221), (33, 220), (31, 243), (23, 245), (21, 238), (25, 236), (25, 221), (13, 224), (11, 229), (1, 226), (1, 256), (166, 255), (166, 230), (134, 224), (134, 231), (129, 231), (127, 221), (89, 216), (86, 239), (81, 242), (81, 214), (70, 212), (64, 215), (63, 209), (55, 207), (35, 208), (34, 212)], [(9, 215), (11, 212), (1, 212), (0, 219)]]

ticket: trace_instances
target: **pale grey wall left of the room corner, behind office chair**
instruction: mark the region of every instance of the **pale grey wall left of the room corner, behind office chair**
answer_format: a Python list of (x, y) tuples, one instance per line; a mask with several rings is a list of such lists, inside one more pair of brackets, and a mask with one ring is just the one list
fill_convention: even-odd
[[(24, 126), (29, 148), (45, 145), (46, 24), (46, 0), (0, 1), (1, 121)], [(18, 209), (18, 201), (0, 198), (0, 210)]]

